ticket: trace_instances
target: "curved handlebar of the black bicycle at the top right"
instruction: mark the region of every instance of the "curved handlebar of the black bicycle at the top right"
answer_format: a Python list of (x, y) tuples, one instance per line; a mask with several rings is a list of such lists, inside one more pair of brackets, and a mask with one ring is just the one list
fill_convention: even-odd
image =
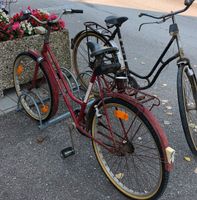
[(154, 15), (150, 15), (150, 14), (147, 14), (147, 13), (140, 13), (138, 16), (139, 17), (146, 16), (146, 17), (151, 17), (153, 19), (162, 19), (163, 21), (166, 21), (167, 19), (169, 19), (170, 17), (172, 17), (174, 15), (185, 12), (187, 9), (189, 9), (189, 7), (193, 4), (194, 1), (195, 0), (185, 0), (185, 8), (178, 10), (178, 11), (175, 11), (175, 12), (168, 13), (166, 15), (159, 16), (159, 17), (154, 16)]

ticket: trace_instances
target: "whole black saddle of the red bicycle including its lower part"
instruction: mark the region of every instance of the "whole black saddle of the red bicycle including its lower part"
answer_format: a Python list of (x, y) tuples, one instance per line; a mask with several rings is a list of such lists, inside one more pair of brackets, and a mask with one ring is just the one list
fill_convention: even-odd
[(91, 51), (90, 56), (95, 56), (96, 58), (94, 62), (94, 74), (96, 76), (116, 73), (120, 69), (121, 65), (117, 60), (114, 63), (106, 64), (103, 59), (105, 54), (117, 52), (118, 49), (116, 47), (105, 47), (94, 42), (87, 42), (87, 46)]

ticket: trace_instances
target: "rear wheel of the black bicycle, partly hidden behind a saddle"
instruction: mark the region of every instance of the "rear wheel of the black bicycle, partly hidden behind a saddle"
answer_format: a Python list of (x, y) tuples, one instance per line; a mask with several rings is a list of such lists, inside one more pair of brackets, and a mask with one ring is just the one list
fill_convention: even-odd
[[(87, 73), (86, 75), (86, 72), (91, 71), (90, 62), (94, 59), (90, 57), (90, 50), (88, 50), (88, 47), (86, 45), (87, 41), (96, 42), (101, 45), (111, 46), (104, 36), (94, 31), (84, 31), (73, 40), (73, 69), (77, 76), (77, 79), (79, 80), (79, 83), (85, 90), (87, 90), (90, 80), (90, 74)], [(93, 88), (92, 91), (95, 94), (98, 93), (97, 88)]]

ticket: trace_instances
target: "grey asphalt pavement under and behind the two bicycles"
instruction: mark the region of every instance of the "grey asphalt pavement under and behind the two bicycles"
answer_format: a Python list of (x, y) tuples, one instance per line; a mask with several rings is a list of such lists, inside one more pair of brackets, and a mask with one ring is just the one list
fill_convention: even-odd
[[(130, 67), (139, 73), (147, 73), (152, 63), (169, 40), (169, 22), (160, 25), (145, 26), (138, 32), (140, 23), (138, 14), (144, 10), (160, 15), (165, 4), (153, 4), (148, 7), (137, 1), (22, 1), (12, 8), (13, 12), (31, 7), (58, 11), (63, 7), (83, 9), (83, 15), (66, 16), (67, 26), (72, 38), (82, 30), (84, 21), (97, 21), (104, 25), (108, 15), (124, 15), (129, 21), (122, 27), (123, 39)], [(148, 1), (146, 1), (148, 2)], [(169, 1), (168, 9), (170, 9)], [(172, 3), (173, 2), (173, 3)], [(178, 2), (178, 3), (177, 3)], [(181, 1), (171, 1), (173, 8), (181, 8)], [(135, 4), (135, 5), (134, 5)], [(142, 4), (142, 3), (141, 3)], [(133, 5), (133, 6), (132, 6)], [(142, 6), (142, 5), (141, 5)], [(162, 8), (160, 8), (160, 6)], [(196, 7), (194, 6), (196, 9)], [(192, 9), (194, 9), (192, 8)], [(168, 11), (168, 10), (167, 10)], [(196, 9), (197, 13), (197, 9)], [(197, 16), (197, 15), (196, 15)], [(181, 31), (185, 52), (191, 58), (192, 65), (197, 65), (197, 19), (192, 10), (191, 16), (179, 16), (177, 22)], [(176, 52), (176, 46), (171, 53)], [(177, 95), (176, 63), (173, 62), (163, 71), (156, 84), (148, 90), (161, 100), (167, 100), (154, 109), (154, 114), (164, 128), (170, 145), (176, 150), (174, 170), (161, 200), (196, 200), (197, 199), (197, 158), (186, 143), (182, 130)], [(166, 101), (162, 101), (166, 102)], [(170, 109), (169, 109), (170, 108)], [(171, 112), (171, 115), (167, 113)], [(43, 141), (40, 141), (43, 138)], [(91, 141), (78, 133), (74, 134), (76, 154), (62, 160), (60, 151), (70, 145), (66, 120), (39, 130), (38, 124), (25, 113), (12, 111), (0, 116), (0, 200), (124, 200), (101, 171), (91, 146)], [(191, 161), (186, 161), (187, 156)]]

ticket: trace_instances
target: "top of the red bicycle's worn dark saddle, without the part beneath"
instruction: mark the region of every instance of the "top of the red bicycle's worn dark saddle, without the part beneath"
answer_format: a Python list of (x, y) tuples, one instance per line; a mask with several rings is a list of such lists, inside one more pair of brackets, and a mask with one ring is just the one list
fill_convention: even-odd
[(90, 55), (91, 57), (100, 56), (102, 54), (115, 53), (118, 51), (116, 47), (101, 46), (98, 43), (94, 43), (94, 42), (87, 42), (87, 46), (91, 51), (91, 55)]

